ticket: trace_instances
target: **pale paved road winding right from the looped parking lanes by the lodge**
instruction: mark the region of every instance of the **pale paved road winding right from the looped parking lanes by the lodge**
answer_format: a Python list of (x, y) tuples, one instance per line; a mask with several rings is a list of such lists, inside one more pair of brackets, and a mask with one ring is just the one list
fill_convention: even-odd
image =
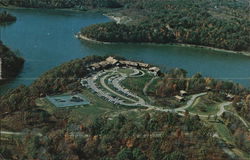
[[(132, 74), (130, 74), (130, 75), (133, 76), (134, 74), (138, 74), (138, 71), (139, 71), (139, 70), (134, 69), (134, 73), (132, 73)], [(175, 109), (162, 109), (162, 108), (159, 108), (159, 107), (157, 107), (157, 106), (153, 106), (153, 105), (146, 104), (144, 99), (142, 99), (141, 97), (139, 97), (139, 96), (137, 96), (137, 95), (132, 94), (132, 93), (129, 92), (127, 89), (123, 88), (123, 87), (120, 85), (120, 82), (123, 81), (123, 80), (125, 80), (125, 79), (127, 78), (127, 75), (126, 75), (126, 74), (118, 73), (117, 70), (113, 70), (113, 71), (110, 72), (110, 73), (115, 73), (115, 74), (117, 74), (117, 75), (116, 75), (117, 77), (115, 77), (115, 78), (112, 80), (113, 86), (114, 86), (117, 90), (123, 92), (125, 95), (129, 95), (129, 96), (131, 96), (131, 97), (134, 97), (134, 98), (138, 99), (138, 101), (136, 101), (136, 100), (134, 100), (134, 99), (132, 99), (132, 98), (126, 97), (125, 95), (122, 95), (122, 94), (120, 94), (120, 93), (117, 93), (116, 91), (112, 90), (109, 86), (107, 86), (106, 83), (105, 83), (105, 79), (106, 79), (108, 76), (110, 76), (110, 74), (107, 74), (107, 75), (103, 76), (103, 77), (100, 79), (101, 85), (102, 85), (105, 89), (107, 89), (109, 92), (111, 92), (111, 93), (113, 93), (113, 94), (115, 94), (115, 95), (117, 95), (117, 96), (119, 96), (119, 97), (121, 97), (121, 98), (123, 98), (123, 99), (126, 99), (126, 100), (128, 100), (128, 101), (131, 101), (131, 102), (133, 102), (133, 103), (132, 103), (132, 104), (130, 104), (130, 103), (128, 104), (128, 103), (124, 103), (124, 102), (122, 102), (122, 101), (114, 100), (114, 98), (112, 98), (111, 96), (107, 96), (107, 93), (105, 93), (105, 92), (103, 92), (102, 90), (98, 89), (98, 88), (95, 86), (95, 83), (93, 82), (93, 79), (96, 80), (99, 76), (102, 76), (103, 74), (105, 74), (105, 72), (98, 73), (98, 74), (95, 75), (93, 78), (88, 79), (88, 83), (89, 83), (90, 87), (91, 87), (92, 89), (94, 89), (97, 93), (99, 93), (101, 96), (104, 96), (104, 97), (110, 99), (111, 101), (116, 101), (117, 103), (119, 103), (119, 104), (121, 104), (121, 105), (126, 105), (126, 106), (145, 106), (145, 107), (148, 107), (148, 110), (158, 110), (158, 111), (162, 111), (162, 112), (176, 112), (176, 113), (178, 113), (179, 115), (183, 116), (183, 115), (184, 115), (183, 112), (185, 112), (186, 109), (188, 109), (189, 107), (191, 107), (191, 106), (194, 104), (195, 100), (196, 100), (198, 97), (207, 95), (207, 92), (195, 94), (195, 95), (192, 95), (191, 99), (190, 99), (190, 100), (187, 102), (187, 104), (186, 104), (185, 106), (183, 106), (183, 107), (175, 108)], [(144, 94), (147, 94), (146, 92), (147, 92), (148, 86), (149, 86), (156, 78), (157, 78), (157, 77), (152, 78), (152, 79), (145, 85), (145, 87), (144, 87), (144, 89), (143, 89)], [(214, 115), (203, 115), (203, 114), (198, 114), (198, 115), (199, 115), (200, 117), (204, 117), (204, 118), (207, 118), (208, 116), (214, 117), (215, 115), (216, 115), (216, 116), (221, 116), (224, 112), (230, 112), (230, 111), (225, 110), (224, 107), (230, 105), (231, 103), (232, 103), (232, 102), (224, 102), (224, 103), (221, 103), (221, 104), (219, 105), (220, 110), (219, 110), (216, 114), (214, 114)], [(181, 113), (181, 112), (182, 112), (182, 113)], [(238, 118), (242, 121), (242, 123), (248, 128), (248, 131), (250, 132), (250, 127), (248, 126), (247, 122), (246, 122), (242, 117), (240, 117), (238, 114), (235, 114), (234, 112), (230, 112), (230, 113), (232, 113), (233, 115), (235, 115), (236, 117), (238, 117)], [(197, 115), (197, 113), (192, 113), (192, 112), (190, 112), (189, 114), (191, 114), (191, 115)]]

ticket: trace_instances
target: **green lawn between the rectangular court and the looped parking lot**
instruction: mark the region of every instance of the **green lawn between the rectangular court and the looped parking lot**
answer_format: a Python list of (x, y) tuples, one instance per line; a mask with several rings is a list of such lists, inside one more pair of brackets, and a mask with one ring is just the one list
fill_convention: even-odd
[(57, 108), (45, 98), (37, 99), (36, 103), (39, 108), (48, 111), (50, 114), (64, 114), (69, 118), (69, 122), (78, 124), (92, 121), (96, 117), (101, 115), (118, 115), (119, 113), (122, 113), (124, 111), (138, 108), (136, 106), (128, 107), (118, 104), (115, 105), (104, 100), (101, 97), (98, 97), (97, 95), (95, 95), (95, 93), (92, 93), (91, 90), (88, 89), (83, 90), (82, 94), (90, 101), (89, 105)]

